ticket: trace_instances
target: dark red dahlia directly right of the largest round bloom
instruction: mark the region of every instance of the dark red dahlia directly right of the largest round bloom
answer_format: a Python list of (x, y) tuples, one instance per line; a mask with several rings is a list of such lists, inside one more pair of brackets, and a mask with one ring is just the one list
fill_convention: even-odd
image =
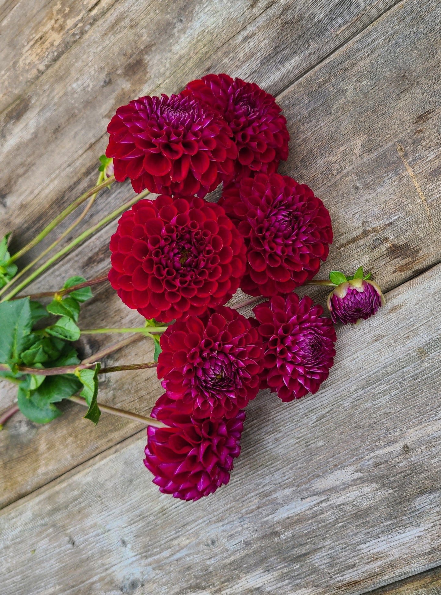
[(247, 245), (241, 289), (253, 296), (292, 292), (314, 277), (332, 243), (329, 212), (289, 176), (256, 174), (229, 184), (219, 200)]

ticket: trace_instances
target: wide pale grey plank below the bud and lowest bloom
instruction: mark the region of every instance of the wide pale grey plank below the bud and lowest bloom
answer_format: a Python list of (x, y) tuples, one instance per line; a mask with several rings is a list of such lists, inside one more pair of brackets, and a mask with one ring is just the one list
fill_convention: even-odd
[(439, 563), (440, 287), (339, 328), (315, 396), (260, 393), (214, 496), (159, 494), (140, 433), (5, 508), (0, 593), (363, 593)]

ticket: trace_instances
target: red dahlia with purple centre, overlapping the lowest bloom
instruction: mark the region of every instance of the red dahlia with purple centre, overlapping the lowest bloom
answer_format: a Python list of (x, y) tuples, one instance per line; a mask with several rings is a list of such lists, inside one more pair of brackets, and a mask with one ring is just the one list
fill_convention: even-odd
[(231, 419), (254, 399), (263, 351), (250, 321), (220, 306), (174, 322), (162, 334), (158, 378), (178, 411), (195, 419)]

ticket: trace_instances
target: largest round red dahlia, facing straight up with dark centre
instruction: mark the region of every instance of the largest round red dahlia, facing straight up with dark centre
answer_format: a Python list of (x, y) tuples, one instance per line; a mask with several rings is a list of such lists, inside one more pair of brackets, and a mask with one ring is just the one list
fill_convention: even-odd
[(159, 322), (228, 302), (245, 271), (245, 245), (222, 207), (158, 196), (122, 214), (109, 281), (129, 307)]

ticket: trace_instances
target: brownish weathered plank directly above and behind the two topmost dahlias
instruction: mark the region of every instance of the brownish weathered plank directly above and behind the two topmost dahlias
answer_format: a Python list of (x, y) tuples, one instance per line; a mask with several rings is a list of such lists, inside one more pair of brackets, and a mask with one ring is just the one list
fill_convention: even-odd
[[(254, 76), (256, 52), (263, 75), (256, 73), (256, 80), (270, 91), (275, 78), (286, 86), (394, 1), (333, 0), (317, 10), (306, 0), (296, 6), (286, 0), (147, 6), (120, 0), (2, 112), (0, 231), (20, 230), (20, 243), (26, 241), (35, 221), (42, 227), (60, 202), (73, 198), (72, 181), (92, 181), (118, 105), (141, 93), (176, 92), (216, 62), (244, 76), (251, 74), (241, 70), (248, 64)], [(237, 45), (223, 49), (238, 34)], [(278, 71), (283, 74), (275, 77)]]

